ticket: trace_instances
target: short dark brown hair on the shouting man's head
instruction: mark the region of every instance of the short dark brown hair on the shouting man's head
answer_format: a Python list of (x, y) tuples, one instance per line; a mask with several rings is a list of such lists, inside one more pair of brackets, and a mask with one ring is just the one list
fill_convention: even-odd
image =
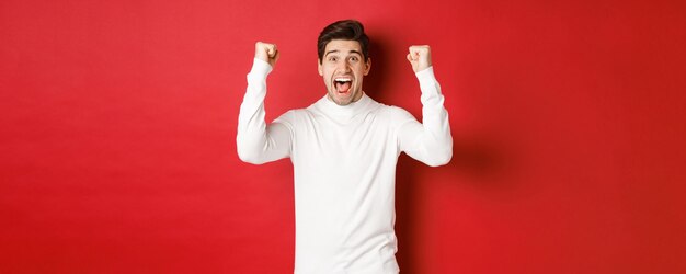
[(367, 47), (369, 46), (369, 37), (365, 34), (365, 28), (358, 21), (336, 21), (321, 31), (319, 38), (317, 38), (317, 54), (319, 55), (320, 62), (324, 58), (327, 44), (329, 44), (332, 39), (357, 41), (359, 43), (359, 47), (362, 47), (362, 55), (365, 58), (365, 61), (369, 58), (369, 52), (367, 50)]

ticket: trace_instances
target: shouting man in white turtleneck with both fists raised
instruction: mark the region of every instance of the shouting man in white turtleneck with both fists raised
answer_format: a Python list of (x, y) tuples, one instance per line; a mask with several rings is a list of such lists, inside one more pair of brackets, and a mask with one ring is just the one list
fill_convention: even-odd
[[(318, 38), (327, 94), (304, 110), (264, 121), (266, 77), (279, 52), (258, 42), (240, 107), (238, 155), (254, 164), (289, 157), (295, 174), (295, 273), (398, 273), (395, 175), (400, 152), (436, 167), (453, 156), (448, 114), (428, 46), (407, 59), (420, 82), (423, 124), (377, 103), (362, 89), (371, 68), (357, 21), (327, 26)], [(403, 94), (404, 95), (404, 94)]]

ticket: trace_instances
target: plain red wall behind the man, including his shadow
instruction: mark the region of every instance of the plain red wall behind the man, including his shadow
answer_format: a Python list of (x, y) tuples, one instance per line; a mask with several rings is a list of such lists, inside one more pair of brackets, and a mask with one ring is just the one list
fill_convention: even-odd
[(239, 161), (255, 41), (267, 119), (324, 94), (355, 18), (365, 90), (421, 115), (428, 44), (455, 156), (401, 156), (403, 273), (686, 273), (683, 1), (0, 3), (0, 273), (290, 273), (288, 160)]

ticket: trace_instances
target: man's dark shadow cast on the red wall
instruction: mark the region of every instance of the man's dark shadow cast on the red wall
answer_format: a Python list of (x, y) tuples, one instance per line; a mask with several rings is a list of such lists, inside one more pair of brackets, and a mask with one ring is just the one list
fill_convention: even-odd
[[(388, 92), (388, 81), (390, 80), (388, 68), (391, 65), (388, 58), (387, 48), (393, 48), (393, 42), (384, 33), (374, 33), (373, 43), (369, 46), (373, 69), (369, 77), (365, 78), (365, 92), (368, 92), (375, 100), (389, 104), (398, 94)], [(396, 56), (395, 56), (396, 57)], [(397, 62), (393, 62), (397, 64)], [(441, 81), (441, 79), (438, 79)], [(419, 96), (418, 96), (419, 99)], [(413, 113), (418, 119), (422, 119), (421, 113)], [(502, 175), (507, 167), (507, 161), (513, 161), (512, 155), (503, 145), (504, 140), (488, 136), (461, 136), (453, 132), (454, 148), (453, 159), (446, 167), (439, 169), (445, 172), (464, 174), (475, 181), (495, 182), (495, 180), (480, 180)], [(425, 252), (422, 247), (422, 239), (425, 238), (425, 229), (422, 228), (422, 184), (425, 182), (418, 174), (427, 169), (423, 163), (401, 155), (398, 159), (396, 172), (396, 235), (398, 237), (399, 250), (397, 260), (400, 269), (404, 273), (421, 273), (425, 266), (420, 265), (420, 255)], [(431, 168), (428, 168), (431, 169)], [(428, 171), (431, 172), (431, 171)], [(462, 182), (454, 182), (456, 184)]]

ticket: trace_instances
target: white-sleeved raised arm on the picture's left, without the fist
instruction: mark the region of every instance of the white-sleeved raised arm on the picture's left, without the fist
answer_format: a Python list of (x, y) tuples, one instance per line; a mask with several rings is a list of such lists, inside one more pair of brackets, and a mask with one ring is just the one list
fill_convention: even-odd
[(284, 124), (264, 122), (266, 77), (272, 71), (268, 62), (254, 59), (248, 73), (248, 89), (238, 115), (236, 145), (238, 157), (249, 163), (261, 164), (286, 158), (290, 153), (290, 130)]

